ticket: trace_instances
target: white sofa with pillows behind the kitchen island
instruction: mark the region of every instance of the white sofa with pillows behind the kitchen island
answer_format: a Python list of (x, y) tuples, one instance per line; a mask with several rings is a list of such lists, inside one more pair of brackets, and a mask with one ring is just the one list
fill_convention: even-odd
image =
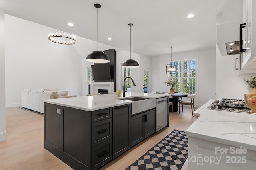
[(21, 107), (44, 114), (44, 100), (56, 98), (70, 98), (68, 91), (55, 89), (25, 89), (21, 92)]

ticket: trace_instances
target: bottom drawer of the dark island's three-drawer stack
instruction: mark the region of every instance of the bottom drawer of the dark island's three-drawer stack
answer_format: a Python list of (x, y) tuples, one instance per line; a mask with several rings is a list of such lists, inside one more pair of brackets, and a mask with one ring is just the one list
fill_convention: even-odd
[(98, 169), (110, 160), (112, 160), (111, 139), (92, 148), (92, 169)]

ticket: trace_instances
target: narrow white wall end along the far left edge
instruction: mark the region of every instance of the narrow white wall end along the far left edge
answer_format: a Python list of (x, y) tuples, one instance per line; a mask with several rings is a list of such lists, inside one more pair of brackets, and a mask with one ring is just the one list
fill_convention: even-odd
[(6, 141), (5, 129), (5, 26), (4, 11), (0, 10), (0, 142)]

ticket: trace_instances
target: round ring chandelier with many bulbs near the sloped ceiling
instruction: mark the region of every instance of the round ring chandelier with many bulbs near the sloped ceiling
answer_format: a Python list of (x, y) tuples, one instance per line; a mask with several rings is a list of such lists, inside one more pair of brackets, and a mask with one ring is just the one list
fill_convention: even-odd
[(54, 43), (58, 44), (75, 44), (76, 37), (70, 33), (64, 33), (64, 31), (55, 31), (54, 33), (48, 34), (48, 39)]

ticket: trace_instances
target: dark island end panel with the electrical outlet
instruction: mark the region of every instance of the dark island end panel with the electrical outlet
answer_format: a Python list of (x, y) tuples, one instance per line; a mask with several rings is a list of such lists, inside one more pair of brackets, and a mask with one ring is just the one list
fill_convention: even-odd
[(46, 104), (45, 113), (45, 140), (63, 151), (63, 109), (57, 105)]

